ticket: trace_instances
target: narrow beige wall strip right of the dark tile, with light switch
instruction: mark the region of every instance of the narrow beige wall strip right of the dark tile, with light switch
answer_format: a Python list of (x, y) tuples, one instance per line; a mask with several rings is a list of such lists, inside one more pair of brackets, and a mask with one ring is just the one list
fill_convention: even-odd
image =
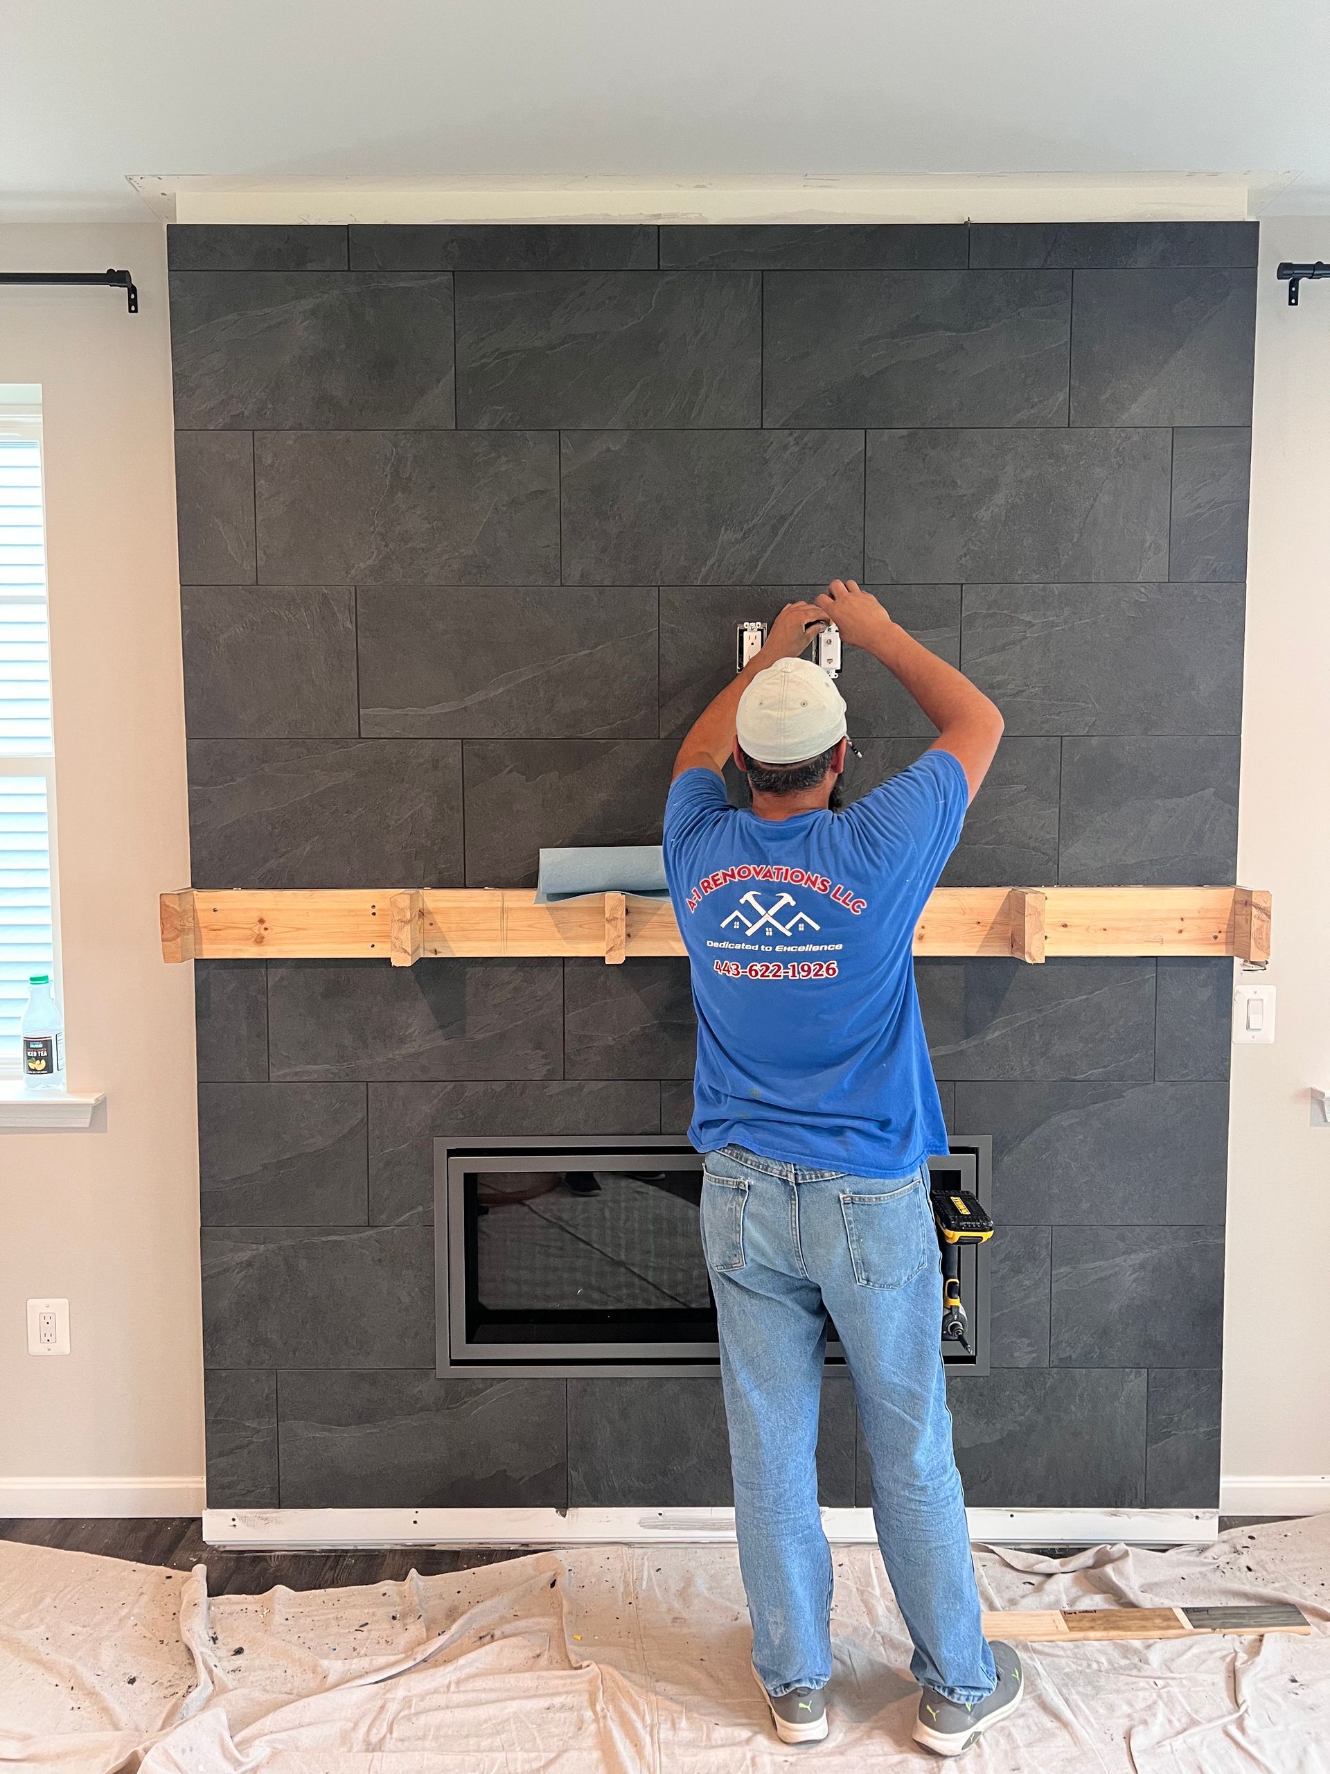
[[(1330, 216), (1261, 229), (1238, 880), (1275, 894), (1271, 1047), (1232, 1052), (1225, 1508), (1330, 1508)], [(1280, 1483), (1280, 1480), (1284, 1483)], [(1321, 1483), (1314, 1483), (1319, 1480)]]

